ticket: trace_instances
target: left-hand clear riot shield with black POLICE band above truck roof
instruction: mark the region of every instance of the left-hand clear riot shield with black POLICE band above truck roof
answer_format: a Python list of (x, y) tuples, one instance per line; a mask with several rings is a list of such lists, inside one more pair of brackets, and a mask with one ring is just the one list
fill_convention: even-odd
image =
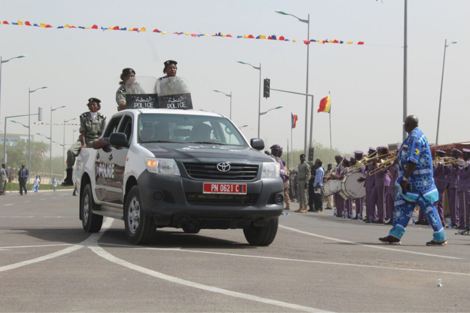
[(156, 109), (158, 108), (155, 84), (157, 78), (152, 76), (137, 76), (132, 84), (126, 82), (126, 109)]

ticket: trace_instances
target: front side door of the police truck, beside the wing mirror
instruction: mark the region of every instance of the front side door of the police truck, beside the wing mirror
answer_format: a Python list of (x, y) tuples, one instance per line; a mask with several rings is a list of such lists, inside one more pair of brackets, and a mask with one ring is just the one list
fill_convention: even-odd
[(129, 151), (129, 142), (132, 136), (132, 116), (124, 115), (119, 124), (118, 133), (124, 133), (127, 136), (127, 146), (111, 147), (107, 153), (108, 168), (112, 175), (106, 178), (106, 198), (107, 202), (124, 204), (124, 167), (126, 164), (127, 152)]

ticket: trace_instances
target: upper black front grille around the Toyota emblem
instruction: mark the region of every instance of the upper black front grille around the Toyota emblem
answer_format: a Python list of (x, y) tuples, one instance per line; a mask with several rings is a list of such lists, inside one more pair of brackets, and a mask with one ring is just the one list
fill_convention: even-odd
[(195, 179), (253, 180), (258, 175), (258, 165), (230, 164), (228, 172), (217, 170), (218, 163), (183, 163), (188, 175)]

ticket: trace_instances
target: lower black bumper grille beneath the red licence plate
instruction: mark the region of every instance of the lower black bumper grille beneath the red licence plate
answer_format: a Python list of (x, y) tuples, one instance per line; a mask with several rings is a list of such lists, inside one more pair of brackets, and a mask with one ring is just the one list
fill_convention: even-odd
[(258, 194), (250, 195), (208, 195), (203, 193), (187, 193), (186, 200), (193, 205), (255, 205), (258, 202)]

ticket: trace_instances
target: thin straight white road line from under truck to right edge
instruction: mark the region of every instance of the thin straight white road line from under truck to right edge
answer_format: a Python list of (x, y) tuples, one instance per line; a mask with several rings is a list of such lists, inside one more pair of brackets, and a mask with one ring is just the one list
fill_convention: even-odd
[(107, 244), (107, 243), (98, 243), (98, 245), (123, 246), (123, 247), (129, 247), (129, 248), (141, 249), (141, 250), (170, 250), (170, 251), (173, 250), (173, 251), (181, 251), (181, 252), (206, 253), (206, 254), (216, 254), (216, 255), (238, 256), (238, 257), (244, 257), (244, 258), (255, 258), (255, 259), (268, 259), (268, 260), (278, 260), (278, 261), (289, 261), (289, 262), (293, 261), (293, 262), (304, 262), (304, 263), (314, 263), (314, 264), (352, 266), (352, 267), (360, 267), (360, 268), (396, 269), (396, 270), (407, 270), (407, 271), (417, 271), (417, 272), (427, 272), (427, 273), (437, 273), (437, 274), (451, 274), (451, 275), (470, 276), (470, 273), (467, 274), (467, 273), (446, 272), (446, 271), (427, 270), (427, 269), (391, 268), (391, 267), (374, 266), (374, 265), (353, 264), (353, 263), (336, 263), (336, 262), (326, 262), (326, 261), (312, 261), (312, 260), (287, 259), (287, 258), (278, 258), (278, 257), (271, 257), (271, 256), (258, 256), (258, 255), (247, 255), (247, 254), (236, 254), (236, 253), (224, 253), (224, 252), (211, 252), (211, 251), (187, 250), (187, 249), (183, 249), (183, 248), (136, 247), (136, 246), (129, 246), (129, 245), (117, 245), (117, 244)]

